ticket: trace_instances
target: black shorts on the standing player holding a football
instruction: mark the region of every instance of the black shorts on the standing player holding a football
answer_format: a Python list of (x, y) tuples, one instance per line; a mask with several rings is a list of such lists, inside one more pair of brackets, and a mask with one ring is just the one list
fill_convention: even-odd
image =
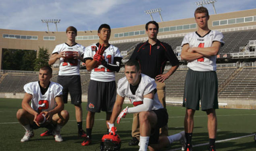
[(64, 103), (68, 103), (68, 94), (71, 97), (71, 104), (82, 103), (82, 90), (80, 75), (58, 76), (57, 83), (62, 85), (62, 96)]

